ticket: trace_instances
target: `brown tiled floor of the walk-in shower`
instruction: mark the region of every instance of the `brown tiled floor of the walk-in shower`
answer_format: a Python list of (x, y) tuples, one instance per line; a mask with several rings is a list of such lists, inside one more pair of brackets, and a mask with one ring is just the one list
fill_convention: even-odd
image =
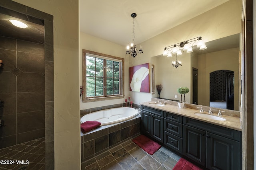
[[(12, 147), (0, 149), (0, 160), (12, 164), (0, 164), (0, 170), (44, 170), (45, 142), (44, 138), (36, 139)], [(24, 160), (24, 164), (22, 161)], [(26, 162), (28, 160), (28, 162)], [(26, 164), (28, 163), (28, 164)]]

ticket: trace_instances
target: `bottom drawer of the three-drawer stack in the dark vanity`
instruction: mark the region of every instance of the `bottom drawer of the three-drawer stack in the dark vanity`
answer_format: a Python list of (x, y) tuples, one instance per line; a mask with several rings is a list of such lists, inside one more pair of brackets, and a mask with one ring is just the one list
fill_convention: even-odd
[(182, 153), (182, 139), (166, 131), (164, 131), (164, 145)]

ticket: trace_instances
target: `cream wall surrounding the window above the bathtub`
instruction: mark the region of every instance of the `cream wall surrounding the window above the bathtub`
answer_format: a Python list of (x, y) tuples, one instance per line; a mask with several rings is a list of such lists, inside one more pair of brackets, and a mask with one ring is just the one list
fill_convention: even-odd
[[(80, 77), (80, 86), (82, 86), (82, 49), (95, 51), (97, 53), (103, 53), (107, 55), (113, 55), (116, 57), (124, 58), (124, 96), (128, 99), (129, 96), (129, 56), (125, 55), (126, 48), (106, 41), (104, 39), (100, 39), (94, 37), (92, 35), (88, 35), (86, 33), (80, 32), (80, 43), (79, 43), (79, 77)], [(108, 106), (113, 104), (120, 104), (124, 102), (124, 98), (122, 99), (114, 99), (114, 100), (106, 100), (100, 102), (89, 102), (83, 103), (82, 97), (80, 98), (80, 109), (88, 109), (99, 106)]]

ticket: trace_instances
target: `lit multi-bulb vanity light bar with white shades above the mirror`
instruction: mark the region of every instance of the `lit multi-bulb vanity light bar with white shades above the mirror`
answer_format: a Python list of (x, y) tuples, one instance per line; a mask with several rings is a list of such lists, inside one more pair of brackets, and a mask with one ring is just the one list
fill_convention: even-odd
[(186, 51), (187, 53), (192, 53), (193, 52), (192, 47), (195, 43), (197, 43), (196, 47), (200, 48), (200, 50), (207, 49), (205, 43), (202, 41), (202, 37), (196, 37), (193, 39), (183, 41), (181, 43), (177, 43), (177, 44), (165, 47), (163, 56), (168, 57), (168, 56), (171, 56), (172, 54), (182, 55), (181, 49), (183, 49), (183, 52)]

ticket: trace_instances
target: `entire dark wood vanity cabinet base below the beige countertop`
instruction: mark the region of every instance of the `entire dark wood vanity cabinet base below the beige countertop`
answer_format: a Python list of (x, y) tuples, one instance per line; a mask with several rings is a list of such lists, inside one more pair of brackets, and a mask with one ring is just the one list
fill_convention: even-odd
[(141, 106), (141, 133), (210, 170), (242, 169), (242, 133)]

